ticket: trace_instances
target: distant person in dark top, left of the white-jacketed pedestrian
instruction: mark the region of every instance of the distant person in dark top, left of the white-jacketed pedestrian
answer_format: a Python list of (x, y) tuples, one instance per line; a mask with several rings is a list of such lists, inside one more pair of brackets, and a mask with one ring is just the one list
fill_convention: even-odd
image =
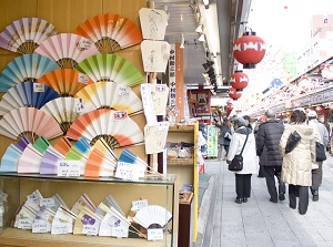
[(215, 123), (215, 126), (219, 127), (219, 135), (218, 135), (218, 159), (225, 161), (226, 155), (229, 152), (229, 145), (231, 141), (231, 122), (228, 117), (223, 119), (222, 124)]

